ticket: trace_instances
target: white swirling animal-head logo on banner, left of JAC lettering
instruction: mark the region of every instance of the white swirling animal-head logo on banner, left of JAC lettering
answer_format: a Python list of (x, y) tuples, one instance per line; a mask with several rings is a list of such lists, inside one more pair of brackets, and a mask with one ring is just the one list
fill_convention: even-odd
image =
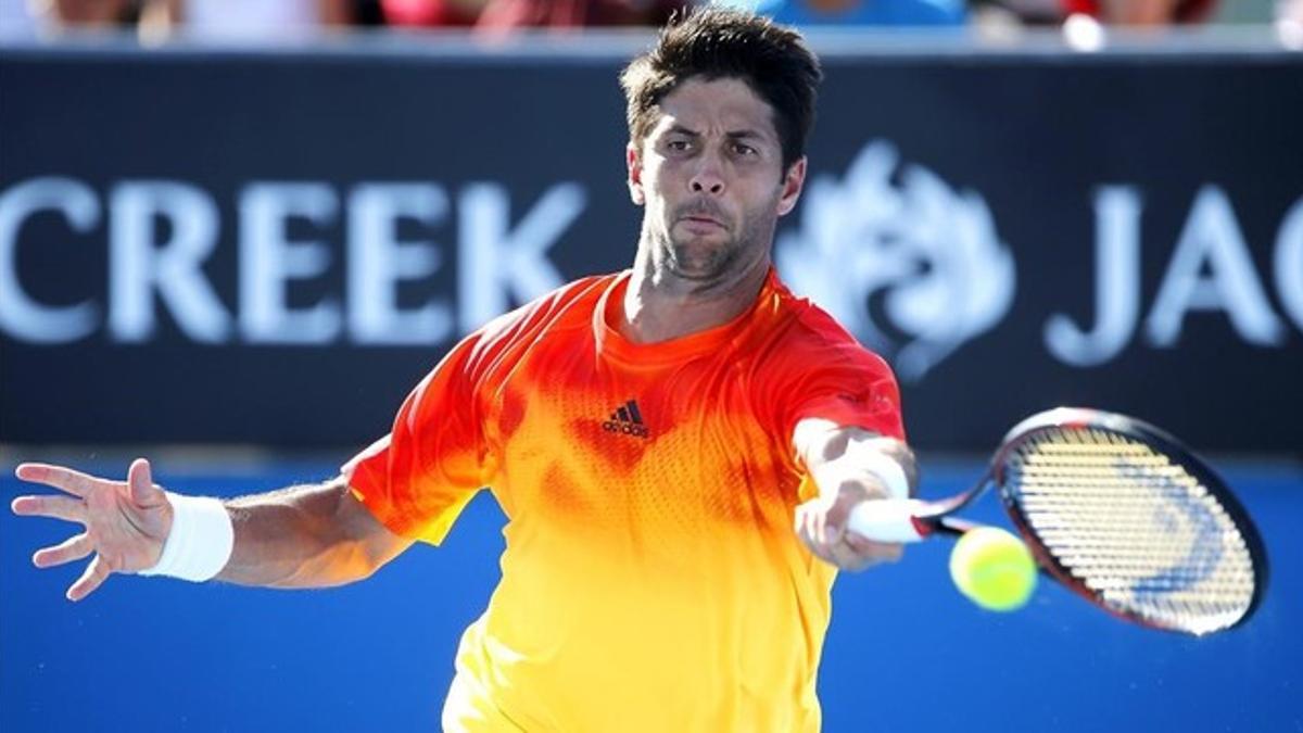
[(775, 248), (783, 278), (920, 381), (995, 326), (1014, 301), (1014, 258), (982, 197), (868, 143), (840, 179), (813, 177), (801, 223)]

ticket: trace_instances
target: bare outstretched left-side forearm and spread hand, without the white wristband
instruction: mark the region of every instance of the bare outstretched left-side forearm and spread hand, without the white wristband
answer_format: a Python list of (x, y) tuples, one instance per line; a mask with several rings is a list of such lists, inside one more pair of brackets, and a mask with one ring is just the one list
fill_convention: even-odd
[[(68, 588), (69, 600), (86, 597), (113, 573), (149, 571), (158, 565), (172, 535), (176, 510), (163, 488), (152, 483), (147, 460), (132, 463), (126, 481), (42, 463), (23, 463), (16, 473), (25, 481), (60, 489), (65, 496), (18, 497), (12, 505), (14, 514), (64, 519), (85, 528), (33, 556), (38, 567), (94, 556), (82, 576)], [(366, 578), (412, 544), (377, 522), (352, 496), (343, 477), (231, 500), (224, 509), (235, 539), (218, 579), (231, 583), (279, 588), (339, 586)]]

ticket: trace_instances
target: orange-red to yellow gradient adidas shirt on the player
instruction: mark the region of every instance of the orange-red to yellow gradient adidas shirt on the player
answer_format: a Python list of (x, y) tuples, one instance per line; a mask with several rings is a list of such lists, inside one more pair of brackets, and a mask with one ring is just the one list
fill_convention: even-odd
[(461, 639), (448, 730), (820, 728), (835, 570), (795, 535), (804, 417), (903, 438), (886, 364), (771, 271), (722, 326), (618, 333), (628, 273), (465, 338), (345, 466), (387, 527), (438, 544), (490, 486), (502, 580)]

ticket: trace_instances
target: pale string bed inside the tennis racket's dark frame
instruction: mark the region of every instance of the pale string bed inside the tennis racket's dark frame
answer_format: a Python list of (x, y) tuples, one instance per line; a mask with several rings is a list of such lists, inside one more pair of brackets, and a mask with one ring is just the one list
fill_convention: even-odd
[(1252, 604), (1253, 562), (1233, 518), (1144, 442), (1052, 428), (1014, 451), (1005, 484), (1045, 550), (1114, 610), (1207, 633)]

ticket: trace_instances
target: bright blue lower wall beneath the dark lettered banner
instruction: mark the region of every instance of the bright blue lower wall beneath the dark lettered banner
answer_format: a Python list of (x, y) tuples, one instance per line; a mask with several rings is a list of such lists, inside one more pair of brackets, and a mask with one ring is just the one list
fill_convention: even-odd
[[(121, 472), (121, 466), (82, 464)], [(328, 476), (328, 466), (193, 477), (236, 494)], [(966, 486), (979, 466), (930, 466), (924, 493)], [(9, 476), (8, 468), (3, 476)], [(859, 730), (1182, 730), (1303, 728), (1303, 472), (1227, 472), (1273, 560), (1246, 626), (1194, 639), (1126, 625), (1050, 583), (1015, 614), (977, 610), (946, 575), (947, 541), (842, 576), (821, 695), (830, 733)], [(5, 503), (18, 483), (0, 477)], [(79, 569), (25, 562), (68, 526), (0, 515), (0, 730), (433, 730), (461, 629), (498, 578), (502, 515), (474, 501), (439, 549), (414, 548), (375, 578), (330, 591), (266, 591), (112, 578), (78, 605)], [(979, 518), (995, 520), (998, 502)], [(632, 630), (631, 630), (632, 633)], [(764, 643), (757, 640), (757, 643)]]

